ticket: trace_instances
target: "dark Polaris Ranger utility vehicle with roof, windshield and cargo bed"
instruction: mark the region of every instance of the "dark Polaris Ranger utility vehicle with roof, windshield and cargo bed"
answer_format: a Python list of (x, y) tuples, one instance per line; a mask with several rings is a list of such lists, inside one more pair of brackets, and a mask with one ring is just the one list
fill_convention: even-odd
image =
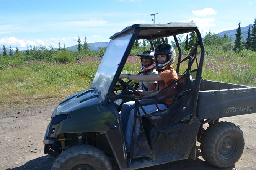
[[(197, 42), (182, 55), (177, 35), (189, 32), (196, 33)], [(121, 72), (127, 74), (130, 50), (135, 40), (148, 40), (154, 50), (153, 40), (165, 43), (165, 37), (173, 37), (178, 49), (173, 64), (178, 79), (161, 91), (139, 96), (136, 83), (119, 79)], [(196, 24), (135, 24), (110, 39), (91, 87), (64, 99), (52, 113), (44, 137), (44, 153), (57, 157), (52, 170), (111, 170), (109, 158), (121, 170), (195, 159), (197, 142), (209, 164), (222, 168), (238, 161), (245, 144), (243, 132), (219, 118), (256, 112), (256, 88), (201, 79), (205, 50)], [(175, 95), (170, 93), (174, 85)], [(143, 110), (168, 98), (173, 104), (165, 110), (139, 112), (139, 107)], [(126, 101), (135, 101), (130, 152), (119, 114)]]

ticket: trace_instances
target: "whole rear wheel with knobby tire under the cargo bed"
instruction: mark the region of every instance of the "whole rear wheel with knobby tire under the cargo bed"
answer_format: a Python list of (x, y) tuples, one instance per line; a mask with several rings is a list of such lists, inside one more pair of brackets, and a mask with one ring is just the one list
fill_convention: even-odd
[(205, 130), (201, 141), (202, 157), (219, 168), (234, 165), (241, 157), (245, 141), (243, 132), (230, 122), (218, 122)]

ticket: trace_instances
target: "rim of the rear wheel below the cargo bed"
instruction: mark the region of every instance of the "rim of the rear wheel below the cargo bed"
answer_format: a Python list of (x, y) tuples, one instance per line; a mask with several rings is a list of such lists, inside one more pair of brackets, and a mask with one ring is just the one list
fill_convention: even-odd
[(232, 136), (226, 136), (220, 143), (219, 153), (223, 159), (230, 159), (236, 154), (238, 142)]

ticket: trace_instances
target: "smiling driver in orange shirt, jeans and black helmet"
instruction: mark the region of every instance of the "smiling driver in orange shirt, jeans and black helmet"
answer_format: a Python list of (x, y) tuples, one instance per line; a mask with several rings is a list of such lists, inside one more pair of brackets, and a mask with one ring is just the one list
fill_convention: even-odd
[[(175, 50), (173, 46), (170, 44), (160, 44), (155, 49), (155, 59), (156, 59), (156, 70), (158, 74), (154, 75), (130, 75), (130, 74), (121, 74), (119, 76), (120, 79), (127, 78), (130, 80), (136, 81), (158, 81), (157, 88), (154, 90), (146, 91), (146, 90), (136, 90), (140, 95), (149, 95), (154, 93), (158, 90), (162, 90), (163, 88), (167, 87), (170, 83), (174, 80), (178, 79), (178, 75), (176, 71), (173, 69), (171, 64), (175, 60)], [(176, 88), (174, 88), (173, 93), (175, 93)], [(165, 103), (171, 105), (173, 99), (166, 99)], [(160, 110), (166, 109), (167, 107), (165, 104), (157, 104)], [(132, 125), (134, 120), (134, 108), (135, 108), (135, 101), (129, 101), (122, 105), (121, 109), (121, 124), (122, 130), (124, 133), (124, 140), (126, 144), (126, 151), (130, 152), (131, 146), (131, 139), (132, 139)], [(140, 109), (140, 112), (143, 112)], [(147, 105), (143, 106), (143, 109), (147, 114), (157, 111), (156, 105)], [(139, 126), (139, 124), (136, 123)], [(136, 127), (137, 128), (137, 127)]]

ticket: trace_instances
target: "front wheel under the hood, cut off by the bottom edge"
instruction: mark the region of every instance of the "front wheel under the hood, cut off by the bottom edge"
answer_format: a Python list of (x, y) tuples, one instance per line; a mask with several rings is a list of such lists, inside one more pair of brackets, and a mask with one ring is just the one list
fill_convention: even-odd
[(103, 151), (90, 145), (78, 145), (63, 151), (53, 162), (52, 170), (112, 170)]

